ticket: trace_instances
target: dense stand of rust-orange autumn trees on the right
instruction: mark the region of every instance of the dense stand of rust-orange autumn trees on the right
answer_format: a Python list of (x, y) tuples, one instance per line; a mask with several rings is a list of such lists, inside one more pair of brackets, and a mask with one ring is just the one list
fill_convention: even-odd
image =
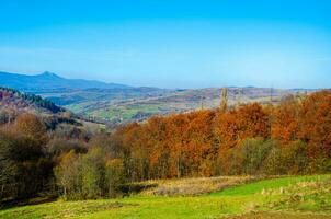
[(132, 180), (330, 172), (330, 91), (277, 106), (224, 105), (118, 129)]

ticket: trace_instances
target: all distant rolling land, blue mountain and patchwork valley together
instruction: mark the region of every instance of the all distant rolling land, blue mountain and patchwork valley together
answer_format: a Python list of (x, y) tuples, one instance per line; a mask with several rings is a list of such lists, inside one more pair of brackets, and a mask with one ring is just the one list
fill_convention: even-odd
[[(57, 105), (93, 120), (113, 124), (144, 120), (156, 114), (215, 108), (220, 88), (159, 89), (135, 88), (82, 79), (65, 79), (55, 73), (36, 76), (0, 72), (0, 85), (38, 94)], [(259, 102), (276, 104), (283, 96), (311, 92), (306, 89), (270, 89), (229, 87), (229, 106)]]

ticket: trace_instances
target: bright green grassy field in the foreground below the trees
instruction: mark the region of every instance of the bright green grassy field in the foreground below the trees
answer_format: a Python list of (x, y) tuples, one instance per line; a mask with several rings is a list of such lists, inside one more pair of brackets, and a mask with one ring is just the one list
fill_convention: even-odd
[(229, 186), (202, 195), (142, 193), (118, 199), (58, 200), (4, 209), (0, 218), (331, 218), (330, 175), (288, 176)]

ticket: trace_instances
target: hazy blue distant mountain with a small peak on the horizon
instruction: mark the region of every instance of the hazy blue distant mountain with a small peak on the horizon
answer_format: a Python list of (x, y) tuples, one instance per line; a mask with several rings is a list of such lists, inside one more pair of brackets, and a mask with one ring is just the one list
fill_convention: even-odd
[(66, 79), (48, 71), (36, 76), (0, 72), (0, 85), (36, 93), (56, 90), (130, 88), (124, 84), (105, 83), (94, 80)]

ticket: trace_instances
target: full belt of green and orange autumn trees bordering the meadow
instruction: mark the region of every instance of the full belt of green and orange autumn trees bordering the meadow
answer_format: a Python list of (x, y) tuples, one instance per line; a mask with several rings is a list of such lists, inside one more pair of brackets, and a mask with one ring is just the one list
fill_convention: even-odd
[(0, 128), (0, 198), (116, 197), (150, 178), (330, 173), (331, 91), (278, 105), (228, 108), (222, 100), (96, 134), (21, 114)]

